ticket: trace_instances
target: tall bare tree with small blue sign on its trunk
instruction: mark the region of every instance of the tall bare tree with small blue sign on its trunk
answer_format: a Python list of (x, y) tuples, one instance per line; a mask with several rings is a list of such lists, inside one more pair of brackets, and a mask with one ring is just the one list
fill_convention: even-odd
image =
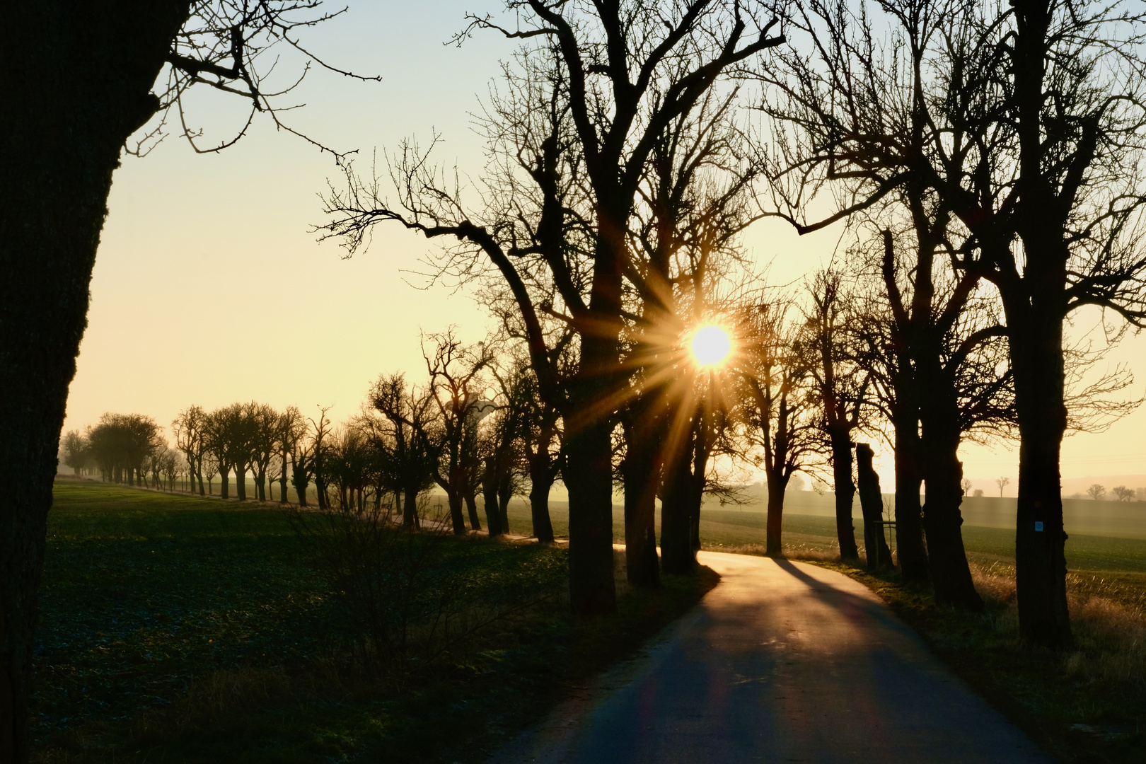
[[(1121, 1), (904, 0), (881, 9), (886, 37), (872, 33), (866, 10), (798, 6), (790, 30), (823, 44), (824, 69), (790, 58), (788, 71), (813, 76), (796, 87), (772, 78), (818, 136), (810, 156), (788, 165), (847, 187), (847, 203), (822, 223), (904, 186), (927, 188), (957, 229), (952, 266), (998, 290), (1021, 440), (1020, 632), (1062, 648), (1072, 639), (1059, 480), (1069, 423), (1063, 322), (1086, 305), (1132, 325), (1146, 316), (1146, 16)], [(819, 225), (792, 219), (801, 230)]]

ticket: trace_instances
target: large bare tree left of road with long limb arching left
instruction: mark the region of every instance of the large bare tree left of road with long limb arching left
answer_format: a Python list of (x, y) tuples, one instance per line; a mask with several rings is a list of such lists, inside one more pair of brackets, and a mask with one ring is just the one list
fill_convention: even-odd
[[(427, 166), (423, 157), (403, 159), (399, 172), (405, 210), (386, 204), (376, 191), (370, 192), (369, 184), (351, 178), (347, 194), (328, 199), (336, 215), (328, 230), (345, 235), (354, 246), (374, 222), (398, 220), (427, 236), (472, 242), (513, 291), (528, 330), (534, 369), (542, 386), (550, 389), (545, 337), (536, 314), (552, 306), (534, 300), (507, 252), (533, 253), (531, 262), (551, 275), (580, 349), (576, 372), (564, 386), (562, 413), (564, 476), (570, 489), (571, 605), (574, 614), (587, 617), (615, 609), (611, 434), (626, 381), (619, 373), (623, 282), (629, 263), (626, 233), (641, 179), (656, 142), (672, 120), (689, 112), (730, 68), (783, 38), (768, 37), (772, 24), (759, 23), (753, 13), (762, 9), (723, 0), (674, 2), (664, 8), (638, 2), (590, 7), (527, 0), (508, 7), (517, 14), (520, 26), (509, 29), (490, 17), (473, 17), (458, 39), (481, 29), (493, 30), (526, 40), (526, 57), (542, 62), (535, 81), (550, 97), (528, 107), (540, 105), (560, 116), (549, 121), (563, 123), (565, 128), (545, 134), (554, 140), (536, 147), (544, 150), (512, 151), (509, 156), (523, 157), (523, 170), (532, 171), (532, 183), (541, 189), (539, 196), (552, 203), (559, 198), (556, 159), (565, 145), (575, 147), (591, 210), (584, 216), (591, 234), (591, 250), (584, 251), (581, 260), (587, 267), (571, 269), (565, 259), (560, 206), (543, 207), (542, 213), (550, 211), (548, 215), (531, 214), (539, 221), (535, 230), (521, 231), (519, 238), (507, 237), (519, 229), (505, 226), (505, 215), (490, 220), (502, 226), (500, 230), (474, 223), (456, 192), (442, 195), (438, 178), (419, 176)], [(563, 145), (563, 140), (568, 142)], [(545, 230), (558, 235), (547, 236)], [(574, 281), (574, 274), (582, 273), (588, 276), (588, 301)], [(558, 396), (550, 400), (556, 402)]]

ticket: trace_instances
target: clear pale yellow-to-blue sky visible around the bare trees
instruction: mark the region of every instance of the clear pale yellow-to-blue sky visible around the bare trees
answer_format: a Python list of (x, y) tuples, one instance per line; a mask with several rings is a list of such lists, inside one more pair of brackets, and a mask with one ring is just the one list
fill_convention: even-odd
[[(283, 103), (295, 128), (338, 150), (356, 149), (360, 167), (403, 137), (425, 142), (437, 132), (442, 160), (465, 173), (481, 167), (470, 113), (513, 52), (511, 41), (478, 33), (460, 48), (444, 45), (461, 30), (468, 0), (424, 3), (352, 1), (343, 16), (306, 32), (304, 41), (340, 69), (380, 74), (380, 82), (312, 70)], [(291, 61), (282, 79), (297, 77)], [(297, 63), (297, 62), (296, 62)], [(204, 143), (242, 126), (235, 96), (199, 90), (188, 115)], [(206, 409), (257, 399), (304, 413), (333, 407), (335, 419), (355, 413), (379, 373), (424, 370), (421, 332), (456, 325), (476, 341), (490, 325), (466, 291), (426, 286), (418, 261), (433, 245), (398, 227), (378, 227), (366, 253), (343, 259), (317, 242), (319, 194), (339, 171), (300, 139), (265, 119), (236, 145), (196, 153), (168, 135), (147, 157), (125, 156), (116, 172), (109, 214), (92, 277), (88, 328), (80, 345), (64, 430), (94, 424), (104, 411), (139, 412), (168, 425), (180, 409)], [(796, 282), (826, 265), (839, 233), (798, 237), (786, 223), (762, 221), (745, 246), (776, 283)], [(1080, 331), (1093, 317), (1080, 320)], [(1112, 362), (1140, 372), (1146, 386), (1146, 338), (1131, 337)], [(1063, 444), (1065, 478), (1146, 474), (1146, 409), (1104, 434), (1078, 434)], [(887, 444), (873, 443), (877, 468), (890, 485)], [(1018, 451), (967, 444), (965, 473), (996, 494), (1010, 475), (1014, 495)], [(1141, 479), (1146, 486), (1146, 476)]]

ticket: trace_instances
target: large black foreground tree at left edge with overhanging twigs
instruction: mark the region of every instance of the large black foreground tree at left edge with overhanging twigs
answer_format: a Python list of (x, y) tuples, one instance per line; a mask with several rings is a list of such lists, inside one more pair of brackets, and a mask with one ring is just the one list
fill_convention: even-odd
[[(9, 646), (0, 653), (7, 677), (0, 683), (0, 761), (29, 756), (28, 683), (52, 475), (121, 151), (146, 153), (162, 137), (167, 113), (178, 115), (196, 150), (234, 142), (201, 145), (182, 108), (196, 85), (236, 93), (249, 100), (252, 116), (298, 134), (280, 118), (273, 94), (284, 88), (265, 87), (262, 64), (273, 69), (272, 46), (319, 61), (298, 38), (330, 18), (319, 6), (126, 0), (78, 7), (45, 0), (5, 15), (0, 49), (14, 69), (0, 84), (9, 115), (0, 148), (0, 459), (26, 479), (0, 511), (0, 644)], [(158, 126), (127, 144), (152, 118)]]

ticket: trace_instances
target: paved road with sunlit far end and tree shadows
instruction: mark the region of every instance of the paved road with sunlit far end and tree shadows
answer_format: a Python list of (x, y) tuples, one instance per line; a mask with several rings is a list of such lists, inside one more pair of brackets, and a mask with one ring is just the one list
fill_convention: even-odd
[(499, 764), (1049, 764), (871, 591), (813, 565), (701, 553), (721, 583)]

